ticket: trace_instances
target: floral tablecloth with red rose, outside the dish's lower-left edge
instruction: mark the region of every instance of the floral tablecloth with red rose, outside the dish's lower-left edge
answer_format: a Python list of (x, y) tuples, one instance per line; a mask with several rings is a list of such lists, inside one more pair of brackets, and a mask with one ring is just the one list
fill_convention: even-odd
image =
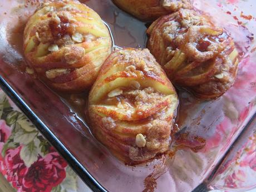
[(0, 152), (0, 172), (18, 192), (88, 190), (66, 161), (2, 90)]

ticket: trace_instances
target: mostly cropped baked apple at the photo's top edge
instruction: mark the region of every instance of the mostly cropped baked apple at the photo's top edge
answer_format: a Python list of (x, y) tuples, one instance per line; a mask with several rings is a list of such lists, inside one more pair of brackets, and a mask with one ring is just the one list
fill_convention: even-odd
[(180, 8), (191, 8), (190, 0), (112, 0), (117, 7), (144, 21), (153, 21)]

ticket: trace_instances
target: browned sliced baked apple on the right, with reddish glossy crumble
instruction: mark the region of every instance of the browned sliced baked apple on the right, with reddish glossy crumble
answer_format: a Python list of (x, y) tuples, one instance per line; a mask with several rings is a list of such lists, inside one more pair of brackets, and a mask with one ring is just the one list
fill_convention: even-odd
[(234, 83), (238, 51), (227, 31), (193, 10), (161, 17), (147, 29), (147, 48), (170, 80), (200, 99), (221, 96)]

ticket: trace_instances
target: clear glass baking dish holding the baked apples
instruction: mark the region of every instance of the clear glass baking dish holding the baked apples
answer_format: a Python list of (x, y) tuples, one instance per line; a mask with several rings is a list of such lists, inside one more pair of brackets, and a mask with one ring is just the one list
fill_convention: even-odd
[[(0, 2), (0, 85), (93, 191), (231, 191), (254, 187), (255, 181), (240, 188), (227, 187), (218, 175), (224, 173), (219, 169), (227, 158), (235, 154), (234, 147), (246, 142), (248, 132), (255, 127), (255, 1), (194, 1), (196, 8), (227, 28), (244, 51), (237, 81), (219, 99), (207, 102), (178, 90), (176, 126), (180, 131), (174, 136), (169, 157), (137, 166), (124, 165), (93, 138), (83, 109), (72, 107), (67, 96), (61, 97), (25, 72), (22, 33), (38, 2)], [(121, 11), (110, 0), (81, 2), (106, 21), (115, 45), (145, 47), (147, 23)]]

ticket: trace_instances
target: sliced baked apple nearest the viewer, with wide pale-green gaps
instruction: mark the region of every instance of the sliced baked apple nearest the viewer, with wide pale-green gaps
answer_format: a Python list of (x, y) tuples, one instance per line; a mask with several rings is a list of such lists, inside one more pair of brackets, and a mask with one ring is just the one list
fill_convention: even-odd
[(113, 52), (89, 94), (92, 132), (127, 164), (163, 154), (170, 145), (178, 97), (149, 50)]

